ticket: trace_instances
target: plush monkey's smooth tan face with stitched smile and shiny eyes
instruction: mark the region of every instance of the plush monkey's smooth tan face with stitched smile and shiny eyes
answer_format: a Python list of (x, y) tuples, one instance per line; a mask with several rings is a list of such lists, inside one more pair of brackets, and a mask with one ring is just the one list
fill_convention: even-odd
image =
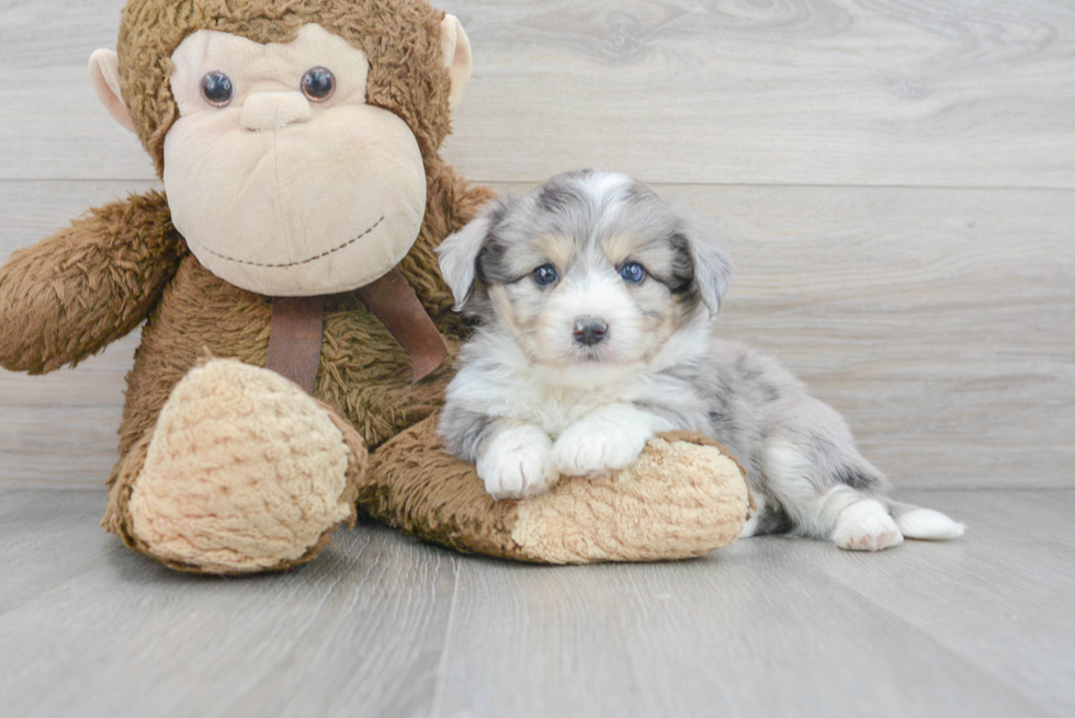
[(426, 212), (422, 156), (403, 119), (366, 104), (362, 50), (318, 25), (268, 45), (202, 30), (171, 59), (165, 187), (210, 271), (308, 296), (364, 286), (407, 254)]

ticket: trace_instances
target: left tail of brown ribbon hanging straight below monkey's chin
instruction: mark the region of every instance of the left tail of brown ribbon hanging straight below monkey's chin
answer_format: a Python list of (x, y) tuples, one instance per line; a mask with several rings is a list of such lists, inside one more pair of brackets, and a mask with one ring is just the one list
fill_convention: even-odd
[(313, 396), (324, 329), (324, 297), (274, 297), (265, 367)]

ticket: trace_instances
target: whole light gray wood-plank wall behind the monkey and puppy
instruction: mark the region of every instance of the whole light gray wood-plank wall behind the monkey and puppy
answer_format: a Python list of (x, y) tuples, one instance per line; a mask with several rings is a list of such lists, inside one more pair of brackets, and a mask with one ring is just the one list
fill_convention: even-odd
[[(86, 75), (122, 4), (0, 7), (0, 259), (154, 181)], [(717, 220), (725, 331), (897, 487), (1075, 486), (1075, 3), (440, 5), (475, 54), (464, 174), (614, 168)], [(136, 344), (0, 373), (0, 481), (101, 485)]]

